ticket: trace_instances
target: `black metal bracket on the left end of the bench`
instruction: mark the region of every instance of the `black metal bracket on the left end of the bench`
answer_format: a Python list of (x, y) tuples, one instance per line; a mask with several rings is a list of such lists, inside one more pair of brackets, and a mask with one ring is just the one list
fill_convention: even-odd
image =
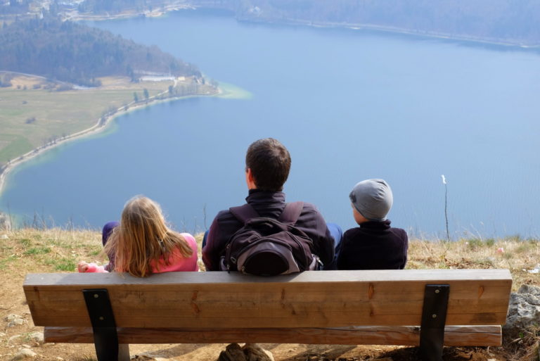
[(118, 343), (115, 315), (106, 289), (82, 290), (86, 309), (94, 329), (94, 346), (98, 361), (129, 360), (129, 345)]

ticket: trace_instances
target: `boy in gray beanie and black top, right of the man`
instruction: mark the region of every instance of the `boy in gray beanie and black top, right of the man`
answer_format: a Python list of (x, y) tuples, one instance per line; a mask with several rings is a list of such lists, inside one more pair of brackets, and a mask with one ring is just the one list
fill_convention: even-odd
[(403, 270), (409, 240), (404, 229), (390, 227), (392, 189), (383, 179), (367, 179), (349, 194), (360, 227), (343, 234), (338, 270)]

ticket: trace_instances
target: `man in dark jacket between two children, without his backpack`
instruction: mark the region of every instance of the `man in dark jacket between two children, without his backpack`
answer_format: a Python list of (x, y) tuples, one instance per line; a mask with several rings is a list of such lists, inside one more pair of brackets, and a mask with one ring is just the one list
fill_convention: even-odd
[[(259, 139), (249, 146), (245, 157), (245, 181), (249, 194), (245, 200), (259, 217), (280, 217), (287, 204), (283, 184), (289, 170), (290, 154), (276, 139)], [(207, 271), (222, 270), (221, 256), (231, 236), (243, 225), (230, 210), (221, 210), (217, 214), (203, 241), (203, 262)], [(333, 267), (334, 248), (341, 240), (341, 229), (332, 224), (329, 230), (321, 213), (310, 203), (303, 203), (295, 227), (311, 239), (311, 252), (319, 257), (325, 269)]]

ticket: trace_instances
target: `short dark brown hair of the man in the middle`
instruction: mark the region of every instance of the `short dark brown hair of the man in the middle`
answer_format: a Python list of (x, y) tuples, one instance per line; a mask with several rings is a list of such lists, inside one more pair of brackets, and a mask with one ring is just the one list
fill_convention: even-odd
[(254, 141), (245, 154), (245, 166), (250, 168), (257, 189), (282, 191), (289, 177), (290, 154), (274, 138)]

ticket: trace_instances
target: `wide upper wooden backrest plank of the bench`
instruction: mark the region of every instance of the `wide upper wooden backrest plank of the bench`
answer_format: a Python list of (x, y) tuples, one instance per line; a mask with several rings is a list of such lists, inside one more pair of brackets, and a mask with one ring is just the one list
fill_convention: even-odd
[(118, 327), (264, 328), (418, 325), (425, 284), (449, 284), (446, 324), (504, 324), (508, 270), (28, 274), (34, 324), (91, 325), (83, 289), (108, 289)]

